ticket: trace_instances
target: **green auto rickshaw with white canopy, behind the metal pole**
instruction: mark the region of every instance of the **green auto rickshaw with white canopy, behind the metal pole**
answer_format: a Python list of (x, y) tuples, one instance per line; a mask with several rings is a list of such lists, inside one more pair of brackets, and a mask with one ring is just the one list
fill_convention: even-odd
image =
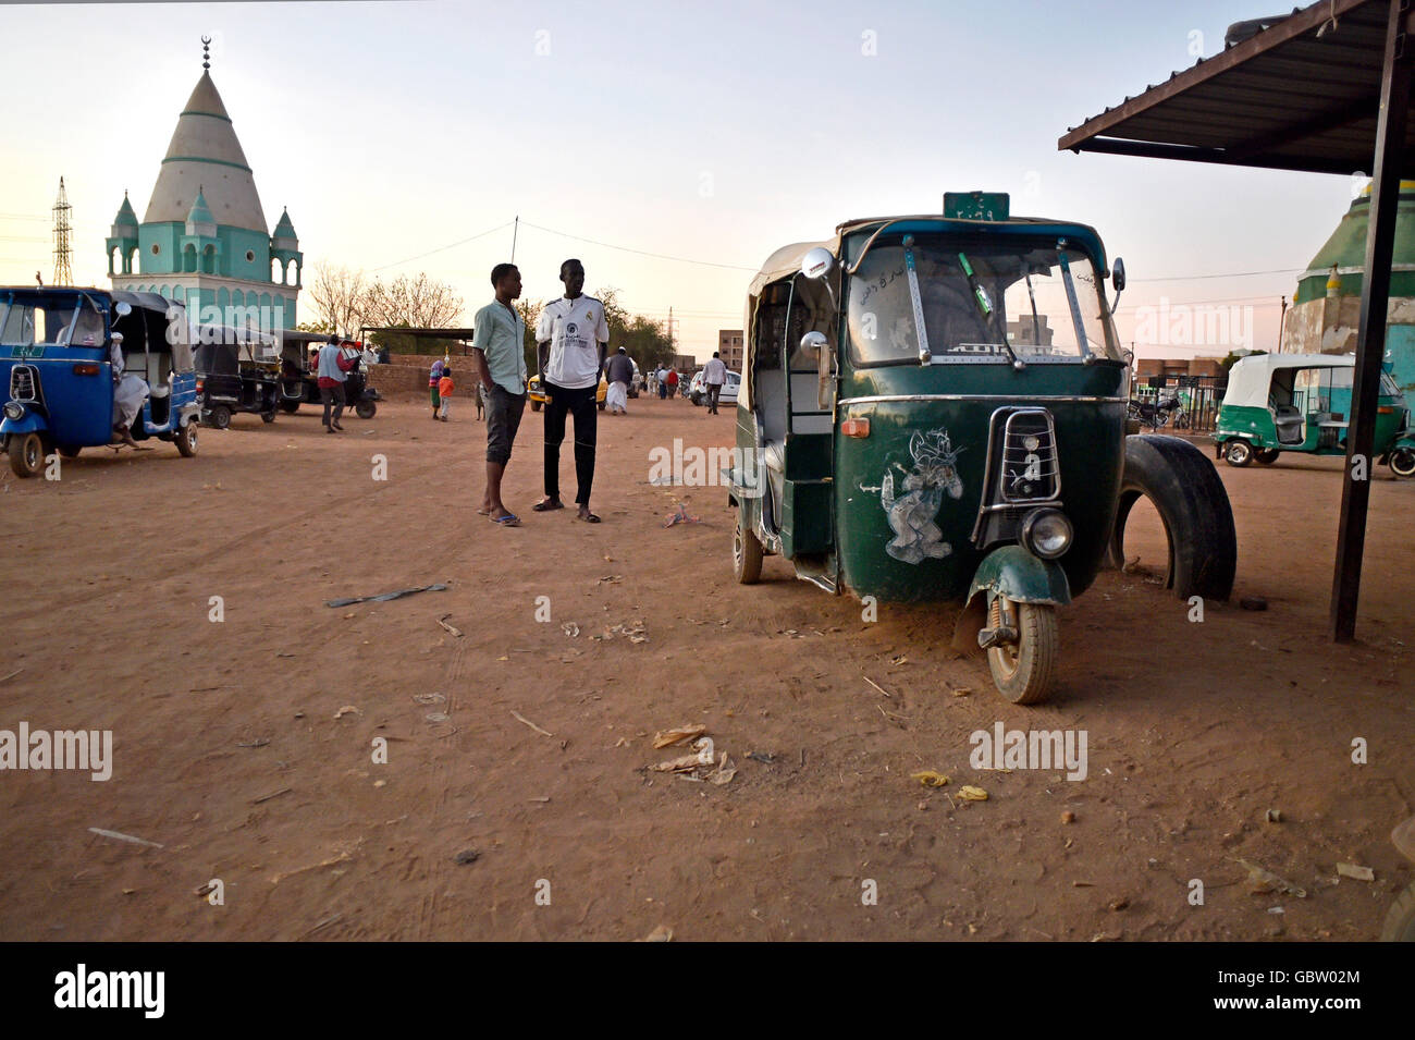
[[(1283, 451), (1344, 456), (1351, 415), (1351, 354), (1249, 354), (1234, 362), (1214, 430), (1230, 466), (1271, 466)], [(1405, 395), (1381, 372), (1374, 457), (1415, 477), (1415, 430)]]

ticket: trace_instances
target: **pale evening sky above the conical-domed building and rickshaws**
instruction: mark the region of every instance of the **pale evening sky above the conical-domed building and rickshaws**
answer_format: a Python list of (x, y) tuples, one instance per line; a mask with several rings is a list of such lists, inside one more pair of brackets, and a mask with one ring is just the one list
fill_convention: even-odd
[[(108, 284), (108, 225), (125, 188), (142, 218), (207, 34), (266, 218), (289, 207), (306, 280), (321, 260), (426, 270), (470, 317), (509, 259), (511, 228), (453, 243), (519, 215), (526, 297), (558, 296), (560, 260), (577, 256), (589, 291), (614, 286), (651, 317), (674, 307), (679, 349), (700, 361), (719, 328), (741, 325), (747, 282), (777, 248), (849, 218), (938, 212), (944, 191), (1009, 191), (1015, 215), (1091, 224), (1125, 258), (1124, 340), (1136, 308), (1165, 297), (1252, 307), (1251, 345), (1272, 348), (1279, 297), (1350, 204), (1350, 178), (1056, 149), (1068, 127), (1191, 65), (1191, 47), (1213, 55), (1230, 23), (1271, 8), (7, 4), (0, 284), (33, 284), (37, 269), (51, 279), (61, 174), (75, 279)], [(1234, 318), (1247, 328), (1244, 311)]]

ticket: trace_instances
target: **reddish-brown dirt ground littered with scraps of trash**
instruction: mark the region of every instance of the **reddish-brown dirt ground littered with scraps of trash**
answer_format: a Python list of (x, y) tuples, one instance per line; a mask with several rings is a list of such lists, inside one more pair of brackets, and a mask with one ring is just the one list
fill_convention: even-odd
[[(86, 450), (58, 484), (6, 473), (0, 730), (110, 729), (115, 761), (108, 782), (0, 773), (0, 938), (1378, 934), (1412, 877), (1388, 835), (1415, 814), (1415, 483), (1378, 473), (1361, 640), (1336, 647), (1339, 464), (1221, 466), (1237, 593), (1268, 610), (1191, 623), (1138, 516), (1139, 569), (1061, 613), (1060, 691), (1026, 709), (948, 648), (951, 608), (867, 624), (780, 559), (734, 584), (724, 494), (648, 483), (674, 437), (730, 444), (729, 409), (630, 405), (600, 417), (599, 526), (531, 512), (529, 412), (507, 481), (525, 526), (478, 516), (466, 399), (446, 424), (412, 402), (338, 437), (304, 410), (239, 416), (192, 460), (158, 444)], [(569, 451), (562, 474), (573, 498)], [(679, 501), (700, 522), (665, 528)], [(974, 770), (969, 734), (998, 722), (1085, 730), (1087, 778)], [(644, 770), (682, 754), (651, 746), (678, 723), (708, 726), (730, 782)], [(1251, 894), (1240, 860), (1305, 896)], [(224, 906), (197, 894), (212, 879)]]

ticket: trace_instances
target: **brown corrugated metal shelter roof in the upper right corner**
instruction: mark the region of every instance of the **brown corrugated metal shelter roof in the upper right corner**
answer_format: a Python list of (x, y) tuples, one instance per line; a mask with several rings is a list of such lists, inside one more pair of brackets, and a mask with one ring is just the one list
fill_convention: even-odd
[(1370, 173), (1388, 13), (1390, 0), (1319, 0), (1073, 127), (1057, 147)]

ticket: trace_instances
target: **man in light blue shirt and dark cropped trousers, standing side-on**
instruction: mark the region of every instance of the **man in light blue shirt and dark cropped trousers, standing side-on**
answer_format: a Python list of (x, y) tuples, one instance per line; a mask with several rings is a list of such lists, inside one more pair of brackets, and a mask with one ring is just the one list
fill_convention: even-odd
[(487, 391), (487, 494), (480, 514), (504, 528), (521, 526), (521, 519), (501, 501), (501, 478), (511, 461), (511, 447), (526, 406), (525, 321), (512, 300), (521, 296), (521, 272), (512, 263), (491, 269), (494, 303), (473, 318), (471, 358)]

